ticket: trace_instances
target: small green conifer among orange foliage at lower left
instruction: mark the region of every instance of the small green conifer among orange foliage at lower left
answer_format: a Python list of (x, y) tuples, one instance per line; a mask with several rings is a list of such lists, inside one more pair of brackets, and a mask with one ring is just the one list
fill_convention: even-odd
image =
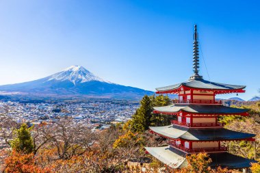
[(34, 141), (31, 137), (31, 129), (33, 127), (28, 128), (27, 124), (22, 124), (20, 129), (15, 131), (16, 137), (12, 140), (11, 146), (13, 150), (17, 152), (24, 152), (25, 154), (29, 154), (34, 150)]

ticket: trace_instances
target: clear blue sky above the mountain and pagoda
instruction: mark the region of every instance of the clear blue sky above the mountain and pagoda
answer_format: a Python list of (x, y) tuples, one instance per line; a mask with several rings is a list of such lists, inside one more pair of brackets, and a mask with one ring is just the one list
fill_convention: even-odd
[[(0, 0), (0, 84), (72, 65), (146, 90), (192, 75), (198, 25), (200, 75), (259, 95), (259, 1)], [(222, 98), (235, 96), (220, 96)]]

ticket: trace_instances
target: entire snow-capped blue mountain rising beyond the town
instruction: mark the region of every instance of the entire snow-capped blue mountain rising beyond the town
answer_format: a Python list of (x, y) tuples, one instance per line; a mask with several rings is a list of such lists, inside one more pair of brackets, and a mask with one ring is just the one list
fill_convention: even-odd
[(87, 98), (139, 99), (153, 92), (118, 85), (96, 77), (82, 66), (70, 66), (61, 72), (35, 81), (1, 85), (0, 93), (15, 93), (23, 96), (77, 96)]

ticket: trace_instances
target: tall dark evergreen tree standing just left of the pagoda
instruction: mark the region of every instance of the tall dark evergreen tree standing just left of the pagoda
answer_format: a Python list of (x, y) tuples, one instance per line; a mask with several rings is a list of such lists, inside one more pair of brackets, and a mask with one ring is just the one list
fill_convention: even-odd
[(140, 102), (141, 106), (138, 108), (133, 115), (132, 119), (132, 130), (133, 131), (146, 131), (151, 125), (151, 117), (153, 112), (151, 99), (145, 95)]

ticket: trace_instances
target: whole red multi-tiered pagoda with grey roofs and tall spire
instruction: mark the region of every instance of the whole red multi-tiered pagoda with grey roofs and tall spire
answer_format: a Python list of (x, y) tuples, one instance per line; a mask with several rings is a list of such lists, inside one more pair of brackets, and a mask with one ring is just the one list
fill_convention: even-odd
[(224, 129), (218, 116), (248, 116), (247, 109), (237, 109), (222, 105), (216, 94), (243, 93), (244, 85), (230, 85), (206, 81), (198, 75), (198, 34), (194, 27), (193, 46), (194, 75), (188, 81), (156, 88), (156, 94), (178, 94), (173, 105), (154, 107), (155, 114), (177, 116), (171, 125), (150, 127), (153, 134), (168, 139), (168, 146), (146, 147), (146, 152), (171, 168), (187, 166), (186, 155), (207, 152), (212, 159), (211, 167), (221, 166), (228, 169), (249, 168), (254, 160), (231, 155), (222, 142), (254, 141), (255, 134), (241, 133)]

